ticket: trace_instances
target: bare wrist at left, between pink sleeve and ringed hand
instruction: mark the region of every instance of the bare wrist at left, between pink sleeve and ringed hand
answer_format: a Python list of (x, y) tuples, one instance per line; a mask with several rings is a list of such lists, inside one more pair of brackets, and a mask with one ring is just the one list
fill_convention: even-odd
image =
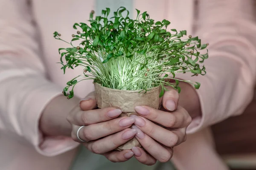
[(72, 126), (67, 115), (79, 104), (79, 99), (60, 95), (52, 99), (42, 112), (39, 129), (45, 136), (70, 136)]

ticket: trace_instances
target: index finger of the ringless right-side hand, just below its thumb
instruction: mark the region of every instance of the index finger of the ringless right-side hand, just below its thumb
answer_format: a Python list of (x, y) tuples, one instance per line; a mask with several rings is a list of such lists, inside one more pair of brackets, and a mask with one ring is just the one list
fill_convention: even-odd
[(190, 124), (192, 118), (189, 113), (182, 107), (178, 106), (177, 110), (170, 112), (160, 111), (148, 106), (136, 106), (135, 111), (140, 116), (145, 117), (153, 122), (157, 122), (164, 127), (181, 128)]

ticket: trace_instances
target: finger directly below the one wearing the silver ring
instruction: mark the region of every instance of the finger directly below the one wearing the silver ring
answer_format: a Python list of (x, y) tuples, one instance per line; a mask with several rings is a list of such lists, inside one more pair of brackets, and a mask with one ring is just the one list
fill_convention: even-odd
[(96, 140), (94, 142), (83, 143), (88, 150), (96, 154), (107, 153), (126, 143), (136, 135), (136, 129), (127, 128), (121, 132)]

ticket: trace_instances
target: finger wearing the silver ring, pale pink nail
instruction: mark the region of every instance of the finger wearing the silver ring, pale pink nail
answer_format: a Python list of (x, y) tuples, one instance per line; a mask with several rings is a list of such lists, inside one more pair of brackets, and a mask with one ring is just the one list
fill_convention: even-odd
[[(80, 139), (89, 142), (130, 127), (135, 122), (132, 117), (119, 117), (110, 121), (84, 126), (79, 130)], [(76, 133), (77, 131), (75, 131)]]

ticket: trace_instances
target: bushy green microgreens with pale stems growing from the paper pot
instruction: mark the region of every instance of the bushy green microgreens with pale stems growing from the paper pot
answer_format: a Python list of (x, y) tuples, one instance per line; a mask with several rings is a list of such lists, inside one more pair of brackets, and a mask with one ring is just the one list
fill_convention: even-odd
[[(137, 9), (136, 9), (137, 10)], [(204, 75), (205, 67), (200, 63), (208, 58), (200, 50), (208, 44), (201, 44), (198, 37), (189, 35), (181, 40), (186, 31), (171, 29), (168, 20), (162, 22), (150, 19), (147, 12), (137, 10), (136, 19), (128, 17), (129, 11), (120, 7), (109, 18), (110, 8), (102, 10), (101, 16), (94, 17), (90, 12), (90, 26), (75, 23), (73, 39), (67, 42), (61, 34), (54, 32), (57, 40), (70, 44), (70, 48), (59, 48), (61, 69), (74, 69), (81, 66), (84, 71), (67, 82), (64, 95), (74, 96), (73, 88), (80, 81), (93, 79), (104, 87), (119, 90), (142, 90), (161, 85), (163, 96), (165, 86), (172, 86), (180, 92), (179, 81), (200, 87), (200, 83), (175, 78), (178, 72), (191, 72), (192, 76)], [(81, 42), (74, 46), (73, 41)], [(65, 61), (64, 61), (65, 60)], [(171, 80), (171, 81), (169, 81)]]

